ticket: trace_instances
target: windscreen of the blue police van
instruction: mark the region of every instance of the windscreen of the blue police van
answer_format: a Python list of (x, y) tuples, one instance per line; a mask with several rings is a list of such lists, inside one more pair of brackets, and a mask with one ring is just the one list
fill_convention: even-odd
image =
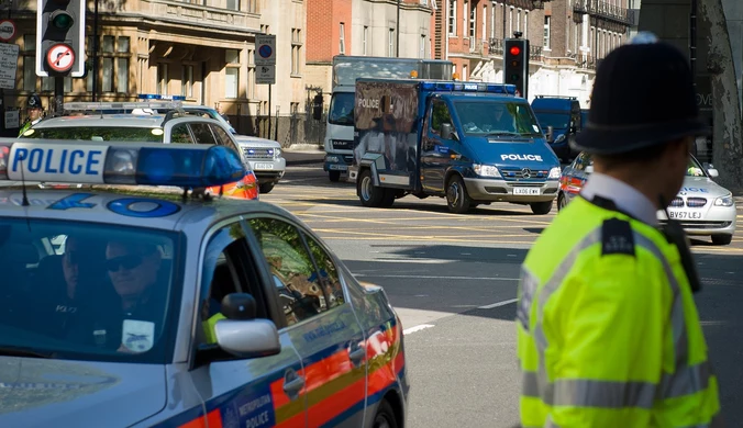
[(454, 108), (467, 135), (541, 135), (534, 114), (526, 103), (455, 101)]

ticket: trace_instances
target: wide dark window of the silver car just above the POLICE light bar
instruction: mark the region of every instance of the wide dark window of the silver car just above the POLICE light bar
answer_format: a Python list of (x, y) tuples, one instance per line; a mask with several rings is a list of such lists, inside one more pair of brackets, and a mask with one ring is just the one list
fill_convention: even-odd
[(32, 128), (25, 138), (82, 139), (103, 142), (163, 143), (163, 129), (159, 127), (134, 126), (69, 126)]

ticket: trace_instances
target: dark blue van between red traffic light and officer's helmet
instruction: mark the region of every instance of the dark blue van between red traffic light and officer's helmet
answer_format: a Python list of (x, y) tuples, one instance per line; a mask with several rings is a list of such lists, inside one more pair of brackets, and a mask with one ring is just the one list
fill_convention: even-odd
[(580, 102), (575, 97), (536, 95), (532, 110), (545, 131), (550, 147), (564, 162), (572, 161), (577, 153), (570, 148), (583, 128)]

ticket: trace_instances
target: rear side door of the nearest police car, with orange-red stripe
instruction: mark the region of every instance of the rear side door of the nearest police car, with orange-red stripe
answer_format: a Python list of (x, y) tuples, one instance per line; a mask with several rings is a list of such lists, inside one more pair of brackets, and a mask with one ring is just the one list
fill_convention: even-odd
[(309, 426), (364, 426), (365, 335), (333, 258), (292, 223), (259, 217), (248, 224), (274, 275), (289, 337), (302, 358)]

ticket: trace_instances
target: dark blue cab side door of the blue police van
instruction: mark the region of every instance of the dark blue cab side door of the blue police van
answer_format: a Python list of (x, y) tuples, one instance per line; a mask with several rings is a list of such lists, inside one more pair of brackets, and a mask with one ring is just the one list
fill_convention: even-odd
[(442, 100), (434, 99), (428, 109), (426, 125), (421, 138), (421, 187), (430, 192), (444, 191), (444, 173), (450, 162), (448, 148), (454, 144), (450, 136), (442, 135), (445, 125), (456, 133), (448, 106)]

